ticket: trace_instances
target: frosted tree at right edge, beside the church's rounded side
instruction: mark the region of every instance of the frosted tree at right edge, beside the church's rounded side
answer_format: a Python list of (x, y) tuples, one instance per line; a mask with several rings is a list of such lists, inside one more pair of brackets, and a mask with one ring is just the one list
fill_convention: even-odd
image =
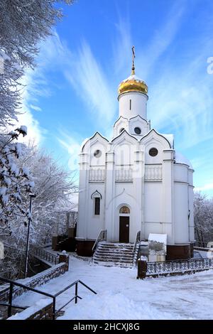
[(194, 198), (195, 239), (204, 247), (213, 241), (213, 198), (195, 193)]

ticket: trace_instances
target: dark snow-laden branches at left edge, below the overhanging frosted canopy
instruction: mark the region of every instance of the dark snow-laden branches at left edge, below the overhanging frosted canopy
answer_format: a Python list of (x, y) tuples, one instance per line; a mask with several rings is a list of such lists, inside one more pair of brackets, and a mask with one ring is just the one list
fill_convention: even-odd
[(9, 134), (0, 134), (0, 237), (8, 230), (8, 222), (14, 215), (26, 214), (22, 208), (23, 193), (32, 190), (34, 183), (28, 169), (18, 167), (23, 154), (18, 136), (26, 136), (26, 126), (20, 126)]

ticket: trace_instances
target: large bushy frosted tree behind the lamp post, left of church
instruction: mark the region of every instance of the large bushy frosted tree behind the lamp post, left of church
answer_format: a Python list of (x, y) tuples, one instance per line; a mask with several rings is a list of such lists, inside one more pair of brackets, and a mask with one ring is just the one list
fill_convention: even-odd
[[(30, 249), (40, 247), (51, 240), (55, 225), (63, 222), (66, 226), (66, 212), (72, 208), (70, 194), (77, 191), (74, 183), (74, 175), (65, 171), (57, 161), (48, 153), (44, 153), (36, 146), (23, 146), (23, 155), (18, 159), (18, 168), (25, 166), (31, 171), (31, 177), (35, 183), (33, 192), (33, 215), (31, 221)], [(29, 208), (28, 193), (22, 193), (22, 210)], [(27, 217), (24, 215), (13, 216), (5, 230), (4, 244), (6, 246), (6, 259), (0, 264), (4, 270), (4, 276), (11, 278), (21, 276), (26, 249)], [(65, 231), (62, 231), (65, 232)], [(15, 255), (16, 254), (16, 255)], [(4, 269), (3, 269), (4, 267)], [(7, 272), (5, 271), (5, 268)]]

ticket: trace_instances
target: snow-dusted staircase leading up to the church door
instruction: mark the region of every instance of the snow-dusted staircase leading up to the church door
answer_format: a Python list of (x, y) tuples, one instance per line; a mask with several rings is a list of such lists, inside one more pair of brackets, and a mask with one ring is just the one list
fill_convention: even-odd
[(101, 266), (133, 266), (133, 244), (99, 242), (92, 257), (93, 264)]

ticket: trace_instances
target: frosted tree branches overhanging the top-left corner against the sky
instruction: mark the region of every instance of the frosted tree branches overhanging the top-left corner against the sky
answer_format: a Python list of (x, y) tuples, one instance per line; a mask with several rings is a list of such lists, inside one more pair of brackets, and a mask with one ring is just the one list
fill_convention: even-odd
[(21, 108), (24, 68), (35, 66), (38, 43), (50, 35), (62, 11), (55, 5), (72, 0), (0, 1), (0, 127), (13, 124)]

